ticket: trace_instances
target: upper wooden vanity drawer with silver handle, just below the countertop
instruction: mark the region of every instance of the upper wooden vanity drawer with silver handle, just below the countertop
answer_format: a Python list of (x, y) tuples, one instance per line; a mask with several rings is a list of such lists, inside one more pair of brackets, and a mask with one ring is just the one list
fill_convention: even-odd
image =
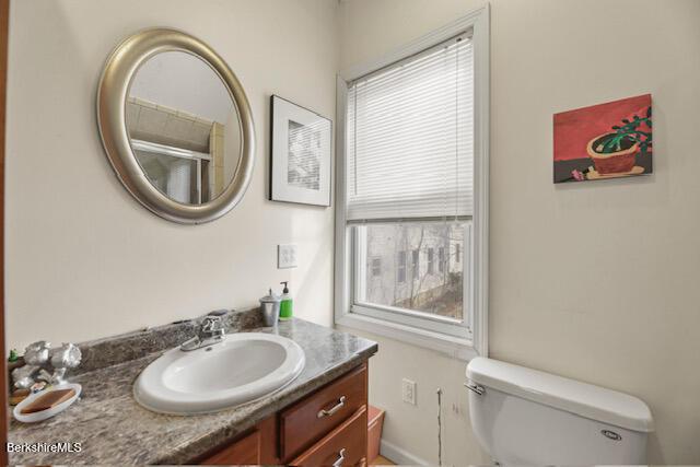
[[(314, 444), (366, 405), (366, 364), (341, 376), (280, 415), (282, 459)], [(365, 417), (366, 418), (366, 417)], [(366, 427), (364, 428), (366, 431)]]

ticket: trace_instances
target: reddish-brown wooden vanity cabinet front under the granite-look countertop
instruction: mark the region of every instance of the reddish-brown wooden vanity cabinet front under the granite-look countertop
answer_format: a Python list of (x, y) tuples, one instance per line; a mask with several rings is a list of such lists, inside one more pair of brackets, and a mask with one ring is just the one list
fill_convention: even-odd
[(349, 371), (265, 419), (205, 465), (366, 465), (368, 366)]

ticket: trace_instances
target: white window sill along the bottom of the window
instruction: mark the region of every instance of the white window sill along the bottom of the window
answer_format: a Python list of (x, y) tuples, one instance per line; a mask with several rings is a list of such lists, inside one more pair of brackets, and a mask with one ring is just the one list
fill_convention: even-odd
[(469, 339), (404, 326), (370, 316), (346, 313), (342, 316), (336, 317), (336, 325), (376, 334), (400, 342), (434, 350), (453, 359), (469, 361), (475, 357), (479, 357), (479, 353)]

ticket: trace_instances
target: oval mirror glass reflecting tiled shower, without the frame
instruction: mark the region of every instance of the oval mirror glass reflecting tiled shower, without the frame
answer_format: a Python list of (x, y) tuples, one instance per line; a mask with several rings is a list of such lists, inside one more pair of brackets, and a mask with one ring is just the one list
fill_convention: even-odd
[(136, 72), (126, 103), (133, 153), (153, 186), (202, 205), (229, 186), (241, 157), (241, 119), (223, 81), (184, 51), (153, 56)]

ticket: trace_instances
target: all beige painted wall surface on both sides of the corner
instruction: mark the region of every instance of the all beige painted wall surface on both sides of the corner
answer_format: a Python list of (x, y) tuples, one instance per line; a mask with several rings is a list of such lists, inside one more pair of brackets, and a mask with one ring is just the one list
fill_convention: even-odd
[[(287, 279), (298, 315), (330, 324), (331, 210), (265, 200), (269, 94), (332, 117), (339, 68), (479, 4), (346, 1), (339, 48), (334, 0), (13, 1), (10, 345), (248, 306)], [(699, 16), (696, 0), (492, 1), (492, 357), (641, 397), (657, 422), (653, 463), (700, 463)], [(243, 202), (211, 224), (180, 226), (145, 211), (100, 143), (94, 93), (104, 59), (121, 37), (152, 25), (211, 44), (252, 103), (254, 180)], [(653, 176), (551, 184), (552, 113), (646, 92)], [(299, 244), (300, 268), (280, 271), (276, 245), (288, 242)], [(389, 409), (385, 439), (434, 463), (440, 386), (444, 462), (488, 460), (469, 429), (464, 363), (376, 339), (371, 397)], [(417, 407), (400, 402), (404, 376), (418, 382)]]

